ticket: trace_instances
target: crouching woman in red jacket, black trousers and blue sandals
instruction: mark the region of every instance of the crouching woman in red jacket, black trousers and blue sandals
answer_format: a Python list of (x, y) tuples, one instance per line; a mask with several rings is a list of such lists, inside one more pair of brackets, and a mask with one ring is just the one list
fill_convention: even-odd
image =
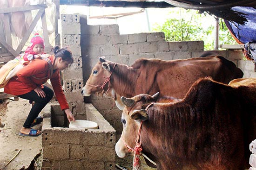
[[(39, 130), (32, 129), (31, 125), (41, 110), (52, 99), (54, 93), (61, 109), (67, 114), (67, 119), (74, 121), (74, 115), (68, 107), (60, 78), (60, 70), (67, 68), (73, 61), (70, 50), (67, 48), (59, 49), (59, 46), (56, 46), (54, 47), (54, 55), (48, 57), (47, 60), (33, 60), (26, 67), (20, 69), (17, 76), (11, 78), (7, 83), (4, 88), (5, 93), (35, 102), (27, 116), (27, 120), (20, 129), (19, 135), (38, 136), (41, 134)], [(43, 85), (47, 79), (50, 79), (54, 92)]]

